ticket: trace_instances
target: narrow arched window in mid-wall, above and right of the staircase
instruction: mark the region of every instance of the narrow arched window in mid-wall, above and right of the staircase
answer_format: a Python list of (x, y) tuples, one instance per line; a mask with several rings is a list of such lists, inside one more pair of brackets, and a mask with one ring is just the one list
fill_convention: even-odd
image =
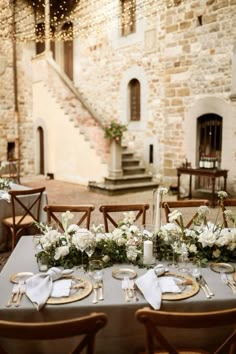
[(130, 121), (139, 121), (140, 117), (140, 82), (132, 79), (129, 82)]

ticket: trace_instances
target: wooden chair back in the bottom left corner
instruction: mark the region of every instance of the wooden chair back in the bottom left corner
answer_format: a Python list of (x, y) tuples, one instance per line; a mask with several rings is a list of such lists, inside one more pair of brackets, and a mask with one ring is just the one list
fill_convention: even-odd
[[(22, 340), (24, 344), (26, 344), (26, 342), (30, 340), (48, 341), (78, 336), (79, 344), (72, 353), (94, 354), (96, 335), (105, 327), (107, 320), (107, 315), (102, 312), (54, 322), (27, 323), (0, 320), (0, 337)], [(65, 348), (65, 353), (66, 352), (67, 350)], [(0, 354), (7, 353), (8, 351), (0, 347)]]

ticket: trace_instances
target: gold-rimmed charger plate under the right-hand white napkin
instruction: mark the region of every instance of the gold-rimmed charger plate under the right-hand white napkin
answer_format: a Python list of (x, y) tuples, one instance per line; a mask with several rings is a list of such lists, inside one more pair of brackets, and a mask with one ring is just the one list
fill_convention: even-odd
[(195, 279), (186, 274), (165, 273), (163, 277), (172, 277), (176, 279), (176, 283), (182, 290), (181, 293), (163, 293), (163, 300), (183, 300), (192, 297), (199, 292), (199, 284)]

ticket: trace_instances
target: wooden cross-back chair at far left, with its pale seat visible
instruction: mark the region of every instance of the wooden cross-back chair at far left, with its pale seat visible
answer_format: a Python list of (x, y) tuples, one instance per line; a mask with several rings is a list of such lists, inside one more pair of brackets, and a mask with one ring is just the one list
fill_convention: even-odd
[(45, 187), (25, 190), (10, 190), (12, 216), (2, 219), (4, 237), (7, 243), (8, 231), (11, 233), (11, 248), (14, 249), (20, 235), (30, 227), (35, 228), (35, 222), (40, 222), (42, 196)]

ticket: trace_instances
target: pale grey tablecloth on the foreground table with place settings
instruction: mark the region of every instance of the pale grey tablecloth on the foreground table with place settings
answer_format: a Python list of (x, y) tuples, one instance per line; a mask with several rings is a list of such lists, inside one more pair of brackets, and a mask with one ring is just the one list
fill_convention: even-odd
[[(127, 265), (126, 265), (127, 267)], [(133, 266), (139, 275), (146, 272), (145, 269), (138, 269)], [(37, 311), (30, 301), (24, 297), (19, 308), (6, 308), (12, 284), (10, 276), (17, 272), (32, 271), (38, 272), (36, 259), (33, 252), (33, 243), (31, 236), (23, 236), (18, 242), (11, 257), (6, 263), (0, 274), (0, 318), (8, 320), (20, 321), (47, 321), (54, 319), (65, 319), (74, 316), (82, 316), (91, 313), (92, 311), (104, 311), (108, 314), (109, 321), (107, 326), (97, 336), (97, 354), (134, 354), (138, 349), (142, 348), (145, 342), (144, 328), (139, 324), (134, 313), (138, 308), (147, 306), (146, 300), (142, 294), (138, 293), (138, 302), (125, 302), (124, 293), (121, 289), (121, 281), (112, 277), (112, 268), (106, 268), (104, 274), (104, 301), (97, 304), (92, 304), (93, 294), (83, 300), (62, 305), (46, 305), (43, 310)], [(176, 271), (176, 270), (175, 270)], [(221, 283), (220, 275), (214, 273), (209, 268), (202, 270), (203, 275), (209, 283), (209, 286), (214, 290), (215, 296), (211, 299), (206, 299), (204, 293), (200, 290), (199, 293), (186, 300), (179, 301), (164, 301), (162, 309), (171, 311), (204, 311), (216, 310), (223, 308), (232, 308), (236, 306), (236, 296), (232, 291)], [(84, 277), (88, 275), (84, 274)], [(90, 279), (91, 280), (91, 279)], [(220, 339), (222, 333), (215, 335), (210, 331), (197, 332), (193, 334), (190, 330), (183, 332), (171, 331), (172, 337), (180, 341), (196, 342), (199, 345), (205, 343), (209, 346), (211, 343), (216, 343)], [(27, 351), (26, 348), (20, 349), (17, 346), (17, 354), (27, 353), (47, 353), (47, 354), (65, 354), (69, 351), (69, 344), (66, 346), (49, 347), (45, 344), (44, 347), (37, 345), (38, 351)], [(39, 349), (40, 348), (40, 349)], [(66, 351), (65, 351), (66, 348)]]

